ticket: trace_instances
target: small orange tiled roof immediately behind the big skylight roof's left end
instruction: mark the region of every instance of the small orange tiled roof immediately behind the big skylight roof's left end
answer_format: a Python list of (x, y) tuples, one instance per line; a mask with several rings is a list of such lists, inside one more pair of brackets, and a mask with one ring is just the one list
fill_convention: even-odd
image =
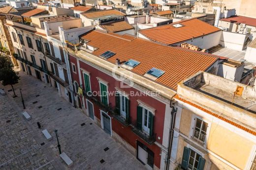
[(102, 24), (101, 26), (109, 32), (119, 32), (119, 31), (134, 29), (134, 27), (128, 24), (126, 21)]

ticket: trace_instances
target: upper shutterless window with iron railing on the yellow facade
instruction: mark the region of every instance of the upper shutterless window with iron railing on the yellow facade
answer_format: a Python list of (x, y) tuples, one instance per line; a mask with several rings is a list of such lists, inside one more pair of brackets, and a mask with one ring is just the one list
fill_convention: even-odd
[(194, 131), (193, 131), (193, 139), (196, 139), (199, 142), (204, 142), (207, 127), (208, 127), (208, 123), (196, 118)]

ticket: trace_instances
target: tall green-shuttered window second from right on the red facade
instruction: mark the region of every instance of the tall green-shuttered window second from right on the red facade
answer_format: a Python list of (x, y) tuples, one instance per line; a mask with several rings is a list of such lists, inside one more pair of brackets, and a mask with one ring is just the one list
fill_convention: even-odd
[(129, 120), (129, 99), (120, 92), (116, 93), (116, 111), (124, 119)]

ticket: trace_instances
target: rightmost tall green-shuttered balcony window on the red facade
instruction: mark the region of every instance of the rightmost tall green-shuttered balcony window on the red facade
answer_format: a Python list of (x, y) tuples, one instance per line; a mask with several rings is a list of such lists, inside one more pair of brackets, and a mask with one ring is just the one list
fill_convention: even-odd
[(153, 136), (154, 115), (146, 107), (137, 106), (137, 128)]

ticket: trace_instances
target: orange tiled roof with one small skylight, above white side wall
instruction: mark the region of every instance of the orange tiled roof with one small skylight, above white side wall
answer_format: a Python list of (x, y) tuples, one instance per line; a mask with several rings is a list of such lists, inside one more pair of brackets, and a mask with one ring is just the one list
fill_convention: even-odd
[[(176, 28), (173, 26), (174, 24), (181, 24), (183, 26)], [(191, 40), (192, 37), (196, 38), (217, 31), (221, 31), (221, 29), (194, 18), (172, 24), (142, 29), (139, 32), (153, 41), (172, 45)]]

